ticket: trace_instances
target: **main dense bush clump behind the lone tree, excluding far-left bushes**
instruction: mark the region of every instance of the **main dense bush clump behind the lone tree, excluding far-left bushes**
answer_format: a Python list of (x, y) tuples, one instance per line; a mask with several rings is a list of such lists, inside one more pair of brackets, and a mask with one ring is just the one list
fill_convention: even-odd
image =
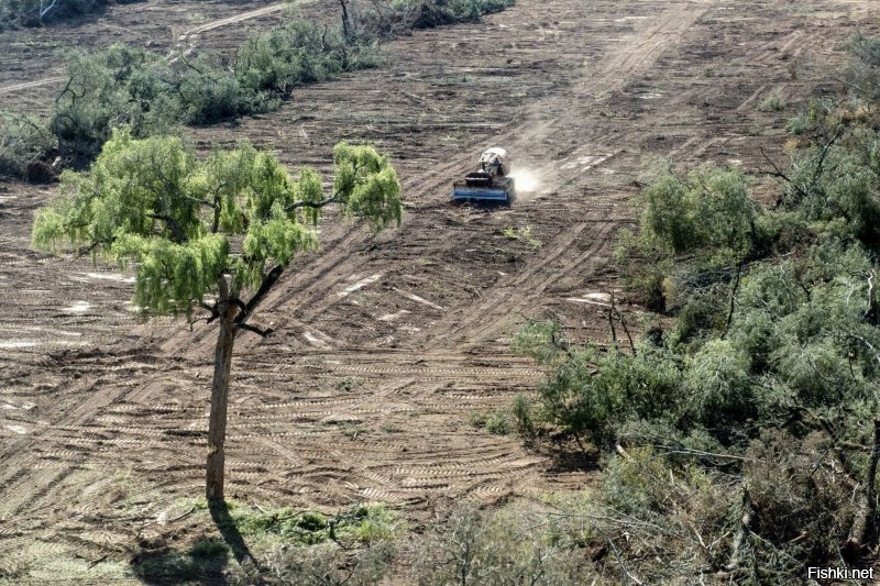
[(88, 162), (116, 128), (145, 137), (264, 111), (296, 86), (369, 65), (369, 47), (344, 45), (336, 33), (327, 38), (336, 42), (321, 44), (316, 25), (292, 21), (249, 40), (231, 68), (209, 55), (168, 60), (121, 44), (74, 53), (52, 120), (58, 148)]

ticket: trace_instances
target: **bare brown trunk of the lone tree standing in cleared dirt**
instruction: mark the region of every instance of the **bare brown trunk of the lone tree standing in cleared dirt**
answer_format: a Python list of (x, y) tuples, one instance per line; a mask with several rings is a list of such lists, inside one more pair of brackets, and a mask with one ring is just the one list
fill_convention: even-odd
[[(229, 297), (229, 285), (220, 277), (220, 299)], [(224, 302), (220, 309), (220, 333), (213, 355), (213, 385), (211, 387), (211, 416), (208, 422), (208, 473), (206, 496), (209, 501), (223, 500), (223, 467), (227, 439), (227, 403), (229, 402), (229, 373), (232, 367), (232, 347), (235, 343), (235, 306)]]

